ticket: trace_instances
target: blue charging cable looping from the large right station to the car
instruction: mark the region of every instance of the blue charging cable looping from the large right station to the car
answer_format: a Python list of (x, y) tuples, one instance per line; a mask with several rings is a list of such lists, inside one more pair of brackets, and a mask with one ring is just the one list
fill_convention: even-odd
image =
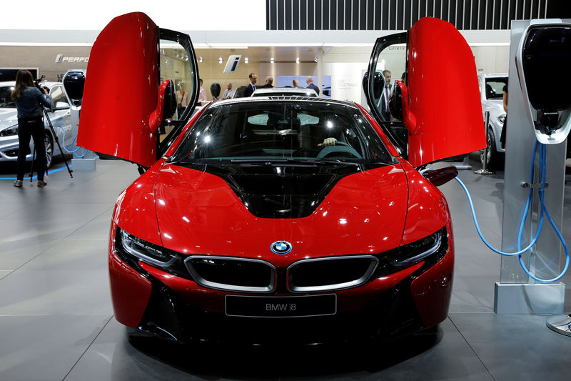
[[(530, 188), (530, 191), (527, 194), (527, 202), (525, 204), (525, 211), (524, 211), (524, 214), (522, 217), (522, 222), (520, 224), (520, 230), (517, 234), (517, 252), (512, 252), (512, 253), (502, 252), (502, 251), (496, 249), (495, 247), (492, 247), (492, 245), (486, 241), (486, 239), (482, 235), (482, 231), (480, 230), (480, 224), (478, 224), (478, 222), (477, 222), (476, 212), (474, 210), (474, 204), (472, 202), (472, 197), (470, 197), (470, 192), (468, 192), (468, 188), (466, 188), (465, 184), (462, 182), (462, 180), (458, 179), (458, 177), (455, 177), (455, 180), (460, 184), (460, 187), (462, 187), (464, 189), (464, 192), (466, 193), (466, 196), (468, 197), (468, 202), (470, 203), (470, 211), (472, 212), (472, 218), (474, 220), (476, 231), (477, 231), (477, 234), (482, 239), (482, 242), (484, 242), (484, 244), (487, 247), (489, 247), (492, 251), (497, 252), (497, 254), (505, 255), (507, 257), (514, 257), (515, 255), (517, 255), (520, 259), (520, 265), (521, 265), (523, 271), (525, 271), (525, 273), (527, 275), (529, 275), (532, 279), (535, 279), (537, 282), (550, 283), (550, 282), (556, 282), (557, 280), (561, 279), (563, 277), (563, 275), (565, 275), (565, 272), (567, 272), (567, 269), (569, 268), (570, 255), (569, 255), (569, 249), (567, 248), (567, 244), (565, 243), (565, 239), (563, 239), (559, 229), (557, 229), (557, 226), (555, 225), (555, 222), (553, 222), (553, 219), (551, 218), (549, 212), (547, 212), (547, 207), (545, 207), (545, 180), (547, 178), (547, 147), (545, 147), (545, 144), (540, 144), (537, 141), (535, 142), (535, 144), (533, 146), (533, 154), (532, 154), (533, 159), (532, 159), (531, 169), (530, 169), (530, 184), (533, 183), (533, 177), (535, 174), (534, 173), (535, 154), (537, 154), (537, 147), (538, 146), (540, 147), (540, 176), (539, 177), (540, 177), (540, 182), (541, 182), (541, 187), (539, 189), (540, 204), (541, 204), (540, 222), (539, 222), (539, 225), (537, 227), (537, 232), (535, 233), (535, 237), (533, 237), (532, 241), (530, 242), (530, 244), (527, 245), (527, 247), (522, 249), (521, 244), (522, 244), (523, 228), (525, 226), (525, 220), (527, 219), (527, 214), (530, 210), (531, 199), (532, 199), (532, 194), (533, 194), (533, 189)], [(527, 250), (531, 249), (533, 247), (533, 245), (535, 244), (535, 242), (537, 242), (537, 239), (540, 237), (541, 229), (543, 227), (543, 216), (544, 216), (544, 214), (545, 214), (545, 216), (547, 216), (547, 219), (549, 220), (551, 226), (553, 227), (553, 229), (555, 230), (555, 233), (557, 234), (557, 237), (559, 237), (561, 243), (563, 244), (563, 248), (565, 249), (565, 267), (563, 268), (563, 271), (559, 275), (557, 275), (557, 277), (552, 278), (552, 279), (540, 279), (538, 277), (535, 277), (535, 275), (531, 274), (530, 270), (528, 270), (527, 267), (525, 267), (525, 263), (523, 262), (523, 257), (522, 257), (522, 254), (527, 252)]]

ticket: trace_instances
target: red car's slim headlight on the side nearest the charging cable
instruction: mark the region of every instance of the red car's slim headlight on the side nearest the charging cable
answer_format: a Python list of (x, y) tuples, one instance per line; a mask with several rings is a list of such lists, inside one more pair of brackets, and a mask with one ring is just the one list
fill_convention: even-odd
[(446, 239), (446, 228), (443, 227), (428, 237), (390, 250), (390, 252), (387, 253), (387, 257), (390, 264), (395, 267), (407, 266), (415, 262), (420, 262), (436, 252), (442, 252), (443, 250), (440, 249), (443, 249), (445, 244), (448, 243)]

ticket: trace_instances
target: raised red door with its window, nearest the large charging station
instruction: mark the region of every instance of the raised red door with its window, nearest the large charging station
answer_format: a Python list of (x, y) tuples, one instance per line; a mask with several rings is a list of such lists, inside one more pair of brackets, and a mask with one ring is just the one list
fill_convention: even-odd
[(486, 145), (474, 56), (446, 21), (425, 17), (377, 39), (363, 88), (380, 127), (414, 167)]

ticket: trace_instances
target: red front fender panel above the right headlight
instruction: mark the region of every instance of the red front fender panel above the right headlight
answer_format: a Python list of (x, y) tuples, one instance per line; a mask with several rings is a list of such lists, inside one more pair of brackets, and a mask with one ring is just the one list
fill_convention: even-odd
[(450, 224), (450, 211), (444, 194), (418, 173), (408, 162), (398, 158), (408, 178), (408, 209), (403, 240), (409, 244)]

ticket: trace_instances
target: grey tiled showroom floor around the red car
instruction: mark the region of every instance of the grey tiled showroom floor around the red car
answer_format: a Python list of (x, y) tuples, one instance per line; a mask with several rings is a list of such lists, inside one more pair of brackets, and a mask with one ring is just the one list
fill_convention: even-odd
[[(474, 162), (474, 158), (470, 159)], [(61, 167), (61, 163), (56, 164)], [(474, 169), (477, 169), (475, 167)], [(448, 319), (437, 330), (390, 345), (335, 347), (133, 346), (113, 319), (106, 246), (113, 203), (138, 176), (126, 162), (95, 172), (65, 170), (37, 188), (0, 174), (0, 380), (570, 380), (571, 337), (545, 317), (495, 315), (500, 258), (477, 237), (456, 182), (441, 189), (455, 233)], [(503, 172), (461, 171), (485, 236), (500, 246)], [(564, 234), (571, 242), (571, 184)], [(563, 279), (571, 284), (571, 276)], [(565, 310), (571, 310), (567, 286)]]

